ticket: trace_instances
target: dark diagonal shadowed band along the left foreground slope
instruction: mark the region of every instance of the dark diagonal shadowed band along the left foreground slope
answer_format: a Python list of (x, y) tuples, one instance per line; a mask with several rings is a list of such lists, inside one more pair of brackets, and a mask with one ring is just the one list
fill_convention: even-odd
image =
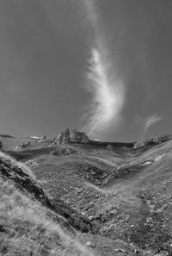
[[(83, 232), (93, 231), (91, 223), (85, 217), (67, 207), (60, 199), (56, 199), (53, 202), (42, 190), (40, 184), (26, 172), (27, 170), (27, 168), (24, 169), (23, 165), (19, 165), (14, 159), (9, 158), (4, 153), (0, 153), (0, 174), (3, 178), (14, 181), (17, 188), (28, 192), (29, 195), (48, 209), (51, 209), (55, 214), (63, 216), (65, 226), (69, 223), (72, 227), (78, 228)], [(56, 217), (59, 221), (58, 215)], [(60, 218), (60, 222), (62, 220)]]

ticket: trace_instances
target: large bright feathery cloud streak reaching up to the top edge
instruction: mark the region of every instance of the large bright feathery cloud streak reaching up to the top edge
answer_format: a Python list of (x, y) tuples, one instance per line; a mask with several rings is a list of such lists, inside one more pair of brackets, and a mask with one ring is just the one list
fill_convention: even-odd
[(81, 2), (94, 32), (94, 38), (89, 46), (90, 57), (85, 81), (85, 87), (91, 93), (91, 102), (84, 115), (83, 130), (89, 136), (95, 137), (112, 123), (114, 128), (119, 124), (125, 91), (115, 73), (95, 2), (94, 0), (81, 0)]

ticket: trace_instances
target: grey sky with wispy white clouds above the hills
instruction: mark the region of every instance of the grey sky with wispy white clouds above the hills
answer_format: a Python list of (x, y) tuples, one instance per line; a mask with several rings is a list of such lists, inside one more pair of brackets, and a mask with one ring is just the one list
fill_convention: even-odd
[(0, 2), (0, 134), (172, 133), (171, 0)]

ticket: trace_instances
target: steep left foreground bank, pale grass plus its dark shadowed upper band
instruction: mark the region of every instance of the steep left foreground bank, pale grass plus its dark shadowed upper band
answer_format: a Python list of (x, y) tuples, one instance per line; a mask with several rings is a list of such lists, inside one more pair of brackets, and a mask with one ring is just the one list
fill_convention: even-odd
[(0, 255), (94, 256), (60, 206), (65, 218), (28, 167), (0, 153)]

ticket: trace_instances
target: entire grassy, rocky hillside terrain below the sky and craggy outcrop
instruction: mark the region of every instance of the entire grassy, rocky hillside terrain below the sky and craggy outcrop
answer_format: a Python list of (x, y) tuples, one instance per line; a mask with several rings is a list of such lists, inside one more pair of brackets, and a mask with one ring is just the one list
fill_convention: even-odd
[(137, 147), (0, 138), (0, 255), (172, 255), (172, 140), (164, 138)]

